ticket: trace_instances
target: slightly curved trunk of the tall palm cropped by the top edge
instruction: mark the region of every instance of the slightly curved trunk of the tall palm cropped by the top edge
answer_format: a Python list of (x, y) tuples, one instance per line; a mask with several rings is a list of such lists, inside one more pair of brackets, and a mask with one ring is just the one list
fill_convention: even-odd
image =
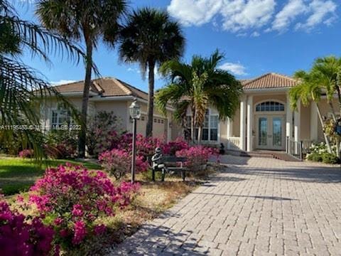
[(91, 85), (91, 73), (92, 73), (92, 41), (89, 36), (84, 33), (85, 36), (85, 44), (87, 48), (87, 60), (86, 60), (86, 68), (85, 68), (85, 82), (84, 82), (84, 90), (83, 90), (83, 98), (82, 98), (82, 113), (80, 115), (80, 119), (82, 121), (80, 135), (78, 139), (78, 156), (83, 158), (85, 157), (85, 144), (87, 141), (87, 104), (89, 102), (89, 93), (90, 93), (90, 85)]

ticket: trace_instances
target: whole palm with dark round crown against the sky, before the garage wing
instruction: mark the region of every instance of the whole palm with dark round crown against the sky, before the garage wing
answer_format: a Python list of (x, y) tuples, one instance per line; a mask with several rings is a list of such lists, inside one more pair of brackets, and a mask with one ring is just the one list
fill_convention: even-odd
[(137, 62), (142, 77), (148, 70), (148, 117), (146, 137), (153, 135), (154, 69), (183, 54), (185, 38), (166, 11), (144, 8), (129, 15), (121, 31), (119, 55), (126, 63)]

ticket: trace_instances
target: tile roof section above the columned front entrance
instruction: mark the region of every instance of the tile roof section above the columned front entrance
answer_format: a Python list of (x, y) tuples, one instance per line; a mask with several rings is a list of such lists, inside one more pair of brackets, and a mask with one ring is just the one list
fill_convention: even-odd
[(293, 78), (277, 73), (268, 73), (258, 78), (241, 80), (241, 82), (244, 90), (293, 87), (296, 85), (296, 80)]

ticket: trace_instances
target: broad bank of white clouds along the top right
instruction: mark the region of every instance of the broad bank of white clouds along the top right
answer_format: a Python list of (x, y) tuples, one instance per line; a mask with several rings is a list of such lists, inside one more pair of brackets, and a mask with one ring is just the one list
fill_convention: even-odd
[(335, 0), (171, 0), (168, 6), (171, 16), (184, 26), (212, 23), (237, 36), (259, 36), (261, 30), (283, 33), (289, 26), (305, 31), (319, 24), (329, 26), (336, 9)]

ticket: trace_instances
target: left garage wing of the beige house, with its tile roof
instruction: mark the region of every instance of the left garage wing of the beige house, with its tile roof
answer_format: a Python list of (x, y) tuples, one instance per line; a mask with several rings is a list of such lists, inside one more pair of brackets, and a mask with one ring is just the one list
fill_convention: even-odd
[[(55, 89), (67, 98), (78, 110), (82, 107), (84, 81), (72, 82), (65, 85), (58, 85)], [(146, 114), (148, 94), (136, 87), (127, 84), (116, 78), (99, 78), (92, 81), (90, 87), (90, 99), (88, 104), (88, 115), (97, 112), (114, 112), (119, 118), (119, 128), (123, 131), (131, 132), (132, 120), (129, 114), (131, 102), (137, 100), (141, 107), (141, 118), (136, 123), (136, 132), (146, 134)], [(58, 106), (58, 102), (49, 99), (43, 108), (43, 125), (47, 129), (70, 121), (70, 113)], [(153, 136), (175, 139), (181, 133), (178, 126), (172, 120), (172, 107), (167, 107), (166, 117), (154, 110)]]

